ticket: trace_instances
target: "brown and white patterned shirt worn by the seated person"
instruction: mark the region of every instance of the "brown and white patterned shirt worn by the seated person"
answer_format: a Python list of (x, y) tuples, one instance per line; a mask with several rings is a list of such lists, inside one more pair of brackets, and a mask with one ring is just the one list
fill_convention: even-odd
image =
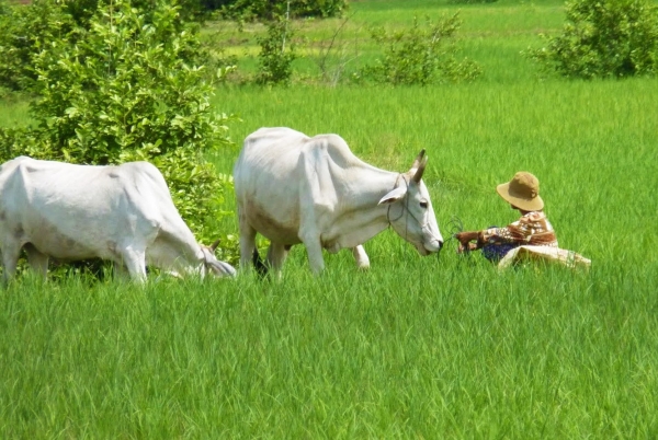
[(485, 229), (479, 235), (479, 241), (484, 244), (508, 243), (558, 247), (555, 231), (544, 211), (527, 212), (504, 228)]

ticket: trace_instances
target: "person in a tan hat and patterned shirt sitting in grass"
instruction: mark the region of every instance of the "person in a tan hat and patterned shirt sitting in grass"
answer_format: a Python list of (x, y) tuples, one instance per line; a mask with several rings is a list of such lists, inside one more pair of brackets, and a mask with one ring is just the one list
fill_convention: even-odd
[(496, 190), (512, 209), (521, 212), (521, 218), (504, 228), (455, 234), (460, 241), (460, 253), (481, 248), (487, 259), (498, 263), (510, 250), (522, 244), (557, 247), (555, 231), (543, 211), (540, 181), (534, 175), (521, 171), (510, 182), (498, 185)]

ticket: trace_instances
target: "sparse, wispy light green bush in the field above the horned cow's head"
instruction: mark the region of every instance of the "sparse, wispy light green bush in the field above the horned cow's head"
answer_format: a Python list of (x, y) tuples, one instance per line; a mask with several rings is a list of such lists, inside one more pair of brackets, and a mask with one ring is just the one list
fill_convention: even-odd
[(387, 33), (375, 28), (373, 38), (385, 47), (384, 57), (363, 68), (358, 80), (372, 80), (390, 84), (421, 84), (436, 81), (470, 81), (480, 68), (467, 59), (456, 59), (452, 42), (461, 22), (458, 14), (433, 24), (426, 19), (423, 28), (413, 19), (410, 30)]

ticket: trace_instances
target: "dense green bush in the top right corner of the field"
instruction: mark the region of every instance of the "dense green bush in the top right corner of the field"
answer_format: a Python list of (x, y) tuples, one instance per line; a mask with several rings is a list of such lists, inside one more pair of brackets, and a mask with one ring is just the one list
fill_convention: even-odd
[(658, 13), (645, 0), (576, 0), (561, 35), (526, 54), (565, 77), (605, 78), (658, 71)]

